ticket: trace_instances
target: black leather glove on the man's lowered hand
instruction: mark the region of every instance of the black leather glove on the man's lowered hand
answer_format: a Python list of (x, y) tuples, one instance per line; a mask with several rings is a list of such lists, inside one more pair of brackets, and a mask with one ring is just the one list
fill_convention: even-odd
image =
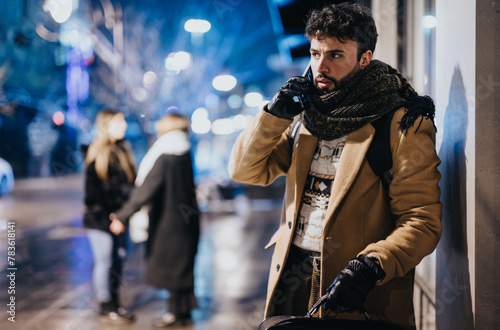
[(366, 255), (350, 260), (327, 289), (325, 308), (335, 310), (339, 307), (348, 312), (362, 310), (368, 293), (385, 277), (376, 260)]

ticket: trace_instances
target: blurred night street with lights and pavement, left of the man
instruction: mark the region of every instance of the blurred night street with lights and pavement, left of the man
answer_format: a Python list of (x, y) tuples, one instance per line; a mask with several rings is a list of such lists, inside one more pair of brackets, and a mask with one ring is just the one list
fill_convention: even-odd
[(201, 211), (198, 307), (184, 328), (258, 327), (271, 257), (263, 247), (278, 227), (283, 182), (236, 185), (227, 158), (260, 104), (307, 65), (307, 57), (293, 61), (279, 50), (277, 6), (0, 3), (0, 158), (13, 172), (2, 166), (0, 285), (7, 290), (0, 301), (11, 306), (0, 328), (145, 329), (166, 312), (169, 292), (144, 281), (145, 243), (129, 240), (120, 299), (136, 321), (116, 325), (96, 314), (81, 146), (96, 134), (97, 112), (116, 109), (125, 114), (125, 139), (139, 164), (154, 142), (154, 122), (170, 107), (191, 120)]

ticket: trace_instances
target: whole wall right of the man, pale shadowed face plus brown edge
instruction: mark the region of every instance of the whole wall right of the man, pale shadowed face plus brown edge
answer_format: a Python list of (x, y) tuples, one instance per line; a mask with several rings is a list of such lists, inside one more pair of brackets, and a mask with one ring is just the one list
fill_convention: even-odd
[(484, 0), (436, 1), (435, 101), (444, 204), (436, 329), (494, 329), (495, 322), (498, 327), (497, 7)]

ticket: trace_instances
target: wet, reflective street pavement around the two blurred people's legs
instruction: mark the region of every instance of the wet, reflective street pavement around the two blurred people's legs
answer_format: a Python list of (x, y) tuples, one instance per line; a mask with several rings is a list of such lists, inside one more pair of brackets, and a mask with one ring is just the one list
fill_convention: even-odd
[[(148, 329), (166, 312), (168, 292), (144, 283), (144, 245), (131, 243), (120, 295), (137, 320), (114, 325), (96, 316), (82, 188), (79, 176), (24, 179), (0, 198), (0, 329)], [(201, 218), (199, 306), (184, 329), (256, 329), (263, 317), (272, 252), (264, 245), (281, 201), (240, 195), (226, 202), (224, 212)]]

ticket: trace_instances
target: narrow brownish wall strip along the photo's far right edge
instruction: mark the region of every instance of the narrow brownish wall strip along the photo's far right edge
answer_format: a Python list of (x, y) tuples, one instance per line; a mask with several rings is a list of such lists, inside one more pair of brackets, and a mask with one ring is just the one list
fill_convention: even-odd
[(476, 9), (476, 329), (500, 329), (500, 3)]

